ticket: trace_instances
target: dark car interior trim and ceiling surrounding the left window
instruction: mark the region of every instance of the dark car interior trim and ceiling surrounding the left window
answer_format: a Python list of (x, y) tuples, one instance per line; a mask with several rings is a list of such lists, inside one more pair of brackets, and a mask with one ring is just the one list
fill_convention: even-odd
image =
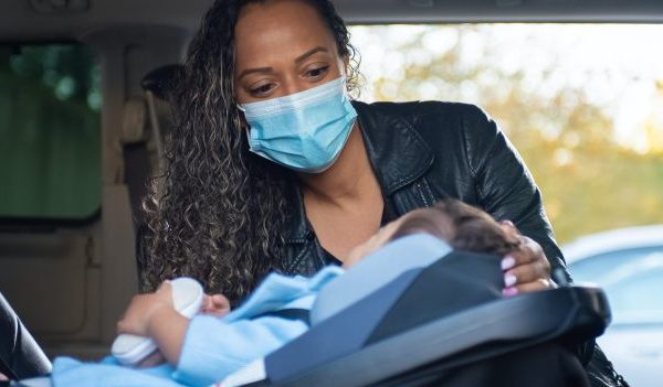
[[(663, 22), (663, 2), (659, 0), (334, 2), (350, 24)], [(169, 79), (178, 72), (211, 3), (0, 2), (0, 46), (15, 51), (25, 45), (82, 45), (98, 62), (98, 137), (90, 140), (98, 142), (91, 143), (98, 150), (98, 164), (93, 165), (98, 166), (96, 202), (84, 213), (67, 217), (57, 212), (54, 216), (0, 214), (0, 292), (50, 358), (98, 359), (107, 355), (116, 337), (116, 322), (138, 292), (140, 201), (149, 176), (159, 172), (162, 141), (170, 126)], [(0, 84), (0, 89), (3, 87)], [(0, 181), (0, 191), (4, 190), (12, 191), (12, 185)], [(35, 190), (48, 195), (48, 187)], [(75, 202), (78, 192), (65, 195)]]

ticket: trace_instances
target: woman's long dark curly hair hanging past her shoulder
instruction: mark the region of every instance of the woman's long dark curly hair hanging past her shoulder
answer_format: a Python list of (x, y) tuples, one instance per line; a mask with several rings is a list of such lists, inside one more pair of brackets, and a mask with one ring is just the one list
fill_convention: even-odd
[[(356, 93), (359, 60), (344, 21), (330, 1), (303, 1), (332, 31), (349, 63), (348, 92)], [(265, 0), (217, 0), (190, 43), (171, 101), (166, 166), (144, 201), (143, 291), (190, 276), (236, 304), (266, 272), (282, 269), (282, 230), (298, 182), (249, 152), (233, 82), (238, 14), (254, 2)]]

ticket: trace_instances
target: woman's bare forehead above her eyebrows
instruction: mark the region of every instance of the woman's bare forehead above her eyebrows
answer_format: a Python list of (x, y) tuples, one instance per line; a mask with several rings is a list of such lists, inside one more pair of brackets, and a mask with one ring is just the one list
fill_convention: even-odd
[(242, 8), (235, 25), (238, 66), (293, 62), (317, 46), (335, 52), (335, 41), (318, 11), (306, 1), (272, 0)]

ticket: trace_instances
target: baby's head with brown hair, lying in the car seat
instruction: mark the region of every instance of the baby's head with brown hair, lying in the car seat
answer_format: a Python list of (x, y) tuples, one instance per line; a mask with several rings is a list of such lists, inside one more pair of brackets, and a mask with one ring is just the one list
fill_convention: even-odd
[(432, 207), (411, 211), (380, 228), (350, 252), (344, 266), (354, 265), (391, 240), (420, 233), (435, 236), (456, 250), (498, 256), (518, 249), (520, 244), (513, 225), (499, 224), (478, 208), (448, 198)]

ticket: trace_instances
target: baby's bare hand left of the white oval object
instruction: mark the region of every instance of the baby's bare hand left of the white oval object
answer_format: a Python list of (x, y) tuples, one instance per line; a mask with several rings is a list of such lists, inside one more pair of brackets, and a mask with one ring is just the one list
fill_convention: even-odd
[(134, 295), (125, 315), (117, 322), (117, 332), (148, 336), (150, 319), (164, 308), (173, 309), (172, 289), (168, 281), (154, 293)]

